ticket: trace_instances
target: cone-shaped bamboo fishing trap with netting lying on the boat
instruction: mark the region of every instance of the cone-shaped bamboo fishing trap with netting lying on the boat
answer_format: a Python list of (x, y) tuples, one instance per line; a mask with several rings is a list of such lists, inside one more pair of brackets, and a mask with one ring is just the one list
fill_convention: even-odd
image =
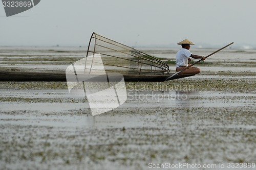
[(133, 47), (93, 33), (87, 57), (100, 54), (106, 72), (129, 75), (164, 75), (169, 73), (168, 64)]

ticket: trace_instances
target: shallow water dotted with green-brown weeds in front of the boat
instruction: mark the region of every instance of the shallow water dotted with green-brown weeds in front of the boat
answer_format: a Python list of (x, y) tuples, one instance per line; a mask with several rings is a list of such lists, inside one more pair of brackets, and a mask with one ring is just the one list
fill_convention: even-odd
[(256, 163), (255, 85), (253, 76), (129, 82), (121, 107), (92, 116), (66, 82), (0, 82), (0, 167)]

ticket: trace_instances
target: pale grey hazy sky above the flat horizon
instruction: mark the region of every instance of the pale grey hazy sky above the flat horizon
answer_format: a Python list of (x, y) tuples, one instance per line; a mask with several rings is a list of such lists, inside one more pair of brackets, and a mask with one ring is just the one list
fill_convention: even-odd
[(256, 47), (256, 1), (41, 0), (6, 17), (0, 6), (0, 45), (88, 45), (96, 32), (126, 45), (234, 42)]

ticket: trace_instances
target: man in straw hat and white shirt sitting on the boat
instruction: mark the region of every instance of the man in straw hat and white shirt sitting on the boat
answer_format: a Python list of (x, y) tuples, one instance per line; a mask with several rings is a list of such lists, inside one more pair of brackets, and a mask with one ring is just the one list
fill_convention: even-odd
[[(191, 61), (189, 57), (205, 60), (205, 57), (203, 56), (198, 56), (190, 53), (189, 51), (190, 44), (194, 44), (194, 43), (189, 41), (188, 39), (185, 39), (179, 42), (178, 44), (181, 45), (182, 48), (176, 54), (176, 71), (177, 72), (186, 68), (189, 65), (188, 61)], [(180, 72), (179, 75), (199, 74), (199, 72), (200, 72), (200, 69), (197, 67), (188, 67), (184, 71)]]

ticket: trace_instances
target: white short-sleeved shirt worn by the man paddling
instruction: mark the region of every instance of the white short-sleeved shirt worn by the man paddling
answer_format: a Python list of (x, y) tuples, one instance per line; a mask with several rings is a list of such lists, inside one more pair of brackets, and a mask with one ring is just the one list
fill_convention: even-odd
[(192, 53), (186, 48), (180, 49), (176, 53), (176, 68), (180, 66), (188, 66), (188, 57), (190, 57)]

